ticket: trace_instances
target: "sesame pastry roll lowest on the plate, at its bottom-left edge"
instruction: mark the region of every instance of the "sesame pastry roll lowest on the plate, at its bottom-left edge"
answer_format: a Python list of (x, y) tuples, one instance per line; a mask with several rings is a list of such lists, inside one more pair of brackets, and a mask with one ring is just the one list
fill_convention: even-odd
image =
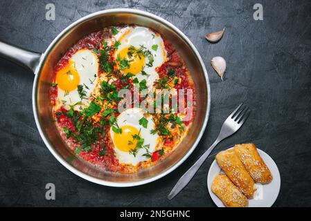
[(234, 186), (226, 174), (218, 174), (211, 189), (226, 207), (247, 207), (249, 204), (245, 195)]

